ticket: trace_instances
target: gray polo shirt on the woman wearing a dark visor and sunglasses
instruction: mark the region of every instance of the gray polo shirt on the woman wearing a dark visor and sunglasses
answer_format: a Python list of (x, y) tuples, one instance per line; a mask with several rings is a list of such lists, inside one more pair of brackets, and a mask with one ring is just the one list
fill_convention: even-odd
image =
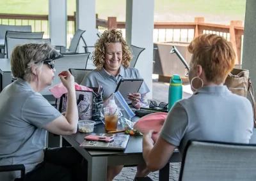
[[(44, 160), (42, 127), (61, 113), (21, 78), (4, 88), (0, 100), (0, 165), (24, 164), (31, 171)], [(12, 180), (19, 173), (0, 173), (0, 178)]]

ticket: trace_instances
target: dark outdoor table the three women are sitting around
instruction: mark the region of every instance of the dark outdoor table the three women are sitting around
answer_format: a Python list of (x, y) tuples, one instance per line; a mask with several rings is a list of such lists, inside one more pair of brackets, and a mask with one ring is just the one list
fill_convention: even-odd
[[(140, 117), (132, 117), (132, 122), (136, 122)], [(118, 129), (123, 129), (122, 125), (118, 125)], [(106, 133), (105, 125), (98, 124), (95, 126), (93, 133)], [(80, 133), (69, 136), (63, 136), (63, 138), (74, 147), (81, 156), (86, 159), (88, 163), (87, 178), (88, 180), (107, 180), (107, 168), (108, 166), (136, 166), (138, 164), (145, 164), (142, 156), (142, 138), (143, 136), (131, 135), (127, 143), (125, 150), (108, 150), (108, 149), (90, 149), (81, 147), (81, 143), (84, 141), (84, 137), (92, 133)], [(118, 133), (124, 134), (124, 133)], [(169, 180), (170, 164), (180, 163), (181, 156), (179, 150), (175, 149), (170, 157), (170, 160), (163, 169), (159, 170), (159, 180)]]

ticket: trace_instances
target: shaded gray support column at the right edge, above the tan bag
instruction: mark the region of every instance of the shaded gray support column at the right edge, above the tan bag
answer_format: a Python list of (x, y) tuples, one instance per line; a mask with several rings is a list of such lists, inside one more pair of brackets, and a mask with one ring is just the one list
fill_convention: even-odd
[(242, 68), (249, 69), (252, 85), (256, 87), (256, 1), (246, 1), (246, 11), (244, 20), (244, 42)]

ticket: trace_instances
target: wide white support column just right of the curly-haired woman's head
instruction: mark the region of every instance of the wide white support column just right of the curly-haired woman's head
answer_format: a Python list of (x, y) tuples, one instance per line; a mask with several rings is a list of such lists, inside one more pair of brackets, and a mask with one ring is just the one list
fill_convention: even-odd
[(150, 89), (148, 99), (152, 99), (153, 30), (154, 0), (126, 0), (126, 41), (129, 45), (146, 48), (141, 52), (135, 68), (139, 69)]

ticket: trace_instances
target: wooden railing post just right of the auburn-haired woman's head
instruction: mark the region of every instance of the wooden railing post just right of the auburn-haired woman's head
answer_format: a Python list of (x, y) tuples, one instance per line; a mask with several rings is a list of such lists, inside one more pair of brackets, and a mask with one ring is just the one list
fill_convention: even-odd
[(232, 20), (230, 21), (230, 43), (232, 43), (232, 47), (236, 53), (236, 61), (235, 64), (241, 64), (241, 36), (236, 34), (235, 26), (241, 26), (243, 24), (242, 21)]

